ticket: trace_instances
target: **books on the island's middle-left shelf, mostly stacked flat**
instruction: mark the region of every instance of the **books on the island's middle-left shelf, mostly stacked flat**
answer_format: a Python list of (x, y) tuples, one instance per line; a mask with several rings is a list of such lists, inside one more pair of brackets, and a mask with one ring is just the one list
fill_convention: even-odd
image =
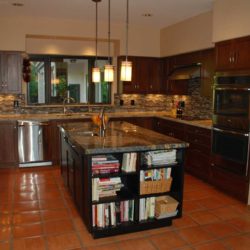
[(92, 200), (99, 201), (100, 198), (116, 196), (124, 185), (120, 177), (114, 178), (93, 178), (92, 179)]

